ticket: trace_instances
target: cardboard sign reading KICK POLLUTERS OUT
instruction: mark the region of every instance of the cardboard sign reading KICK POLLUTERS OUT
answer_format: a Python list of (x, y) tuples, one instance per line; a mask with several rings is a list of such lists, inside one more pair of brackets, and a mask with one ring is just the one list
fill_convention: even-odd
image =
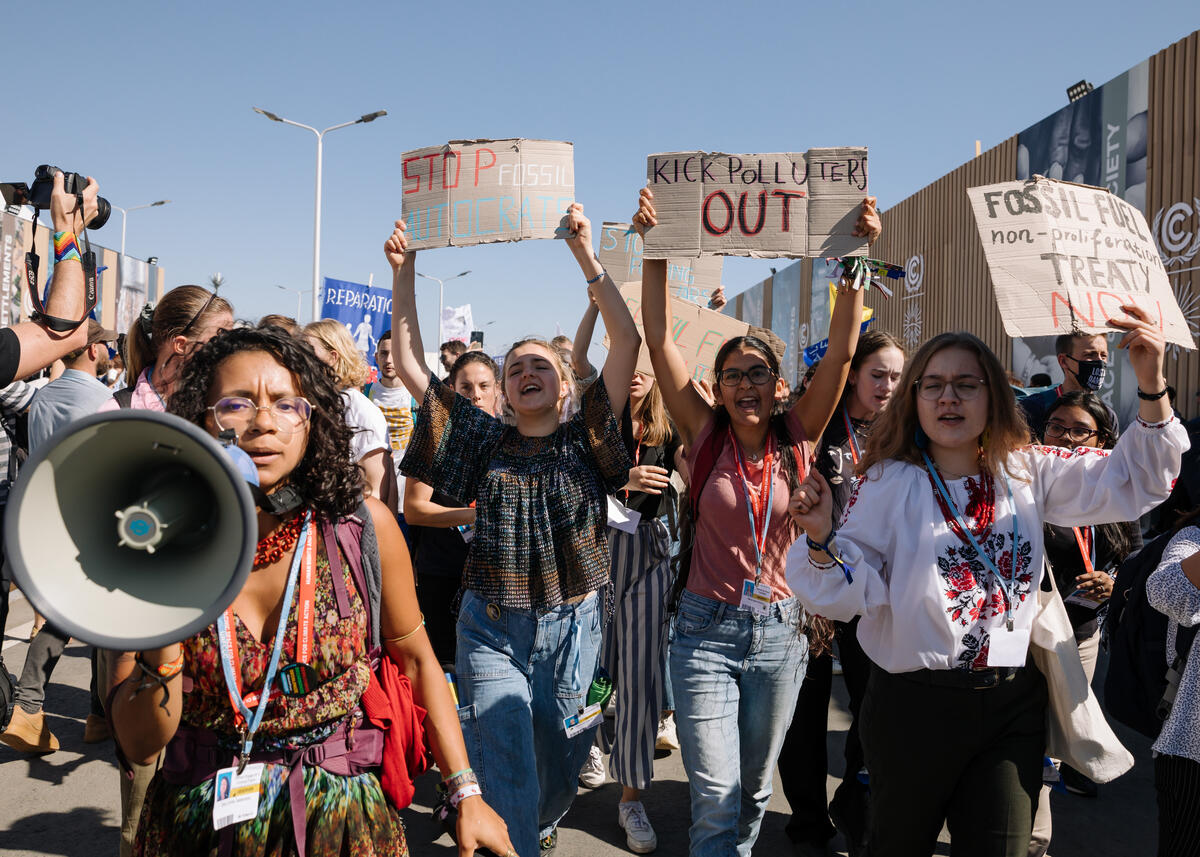
[(853, 235), (868, 192), (865, 148), (662, 152), (646, 158), (646, 179), (659, 216), (647, 259), (866, 253), (866, 239)]

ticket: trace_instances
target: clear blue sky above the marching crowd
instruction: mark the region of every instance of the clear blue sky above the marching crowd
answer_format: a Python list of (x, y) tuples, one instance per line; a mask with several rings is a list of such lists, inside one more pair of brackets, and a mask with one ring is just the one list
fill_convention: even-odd
[[(130, 254), (157, 256), (168, 286), (220, 271), (239, 316), (258, 317), (295, 311), (276, 284), (311, 284), (316, 140), (253, 106), (317, 127), (388, 110), (325, 138), (322, 274), (379, 284), (409, 149), (571, 140), (576, 197), (599, 226), (632, 212), (650, 152), (865, 144), (886, 208), (976, 139), (986, 149), (1061, 107), (1069, 84), (1182, 38), (1200, 6), (136, 1), (7, 4), (4, 18), (4, 180), (50, 162), (95, 175), (118, 205), (172, 199), (128, 215)], [(119, 246), (119, 215), (94, 240)], [(727, 259), (727, 290), (768, 266)], [(490, 350), (574, 332), (586, 305), (560, 242), (427, 251), (418, 269), (473, 271), (446, 304), (473, 305)], [(436, 286), (418, 283), (430, 344)]]

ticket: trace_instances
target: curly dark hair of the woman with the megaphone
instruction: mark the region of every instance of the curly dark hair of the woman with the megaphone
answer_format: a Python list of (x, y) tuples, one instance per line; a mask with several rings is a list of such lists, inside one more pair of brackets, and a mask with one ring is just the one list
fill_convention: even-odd
[(184, 368), (168, 410), (204, 426), (209, 390), (217, 366), (238, 352), (265, 352), (292, 372), (300, 395), (312, 404), (308, 447), (292, 472), (289, 484), (322, 516), (352, 514), (362, 497), (359, 469), (350, 460), (350, 428), (337, 379), (304, 341), (282, 328), (239, 328), (217, 334), (200, 347)]

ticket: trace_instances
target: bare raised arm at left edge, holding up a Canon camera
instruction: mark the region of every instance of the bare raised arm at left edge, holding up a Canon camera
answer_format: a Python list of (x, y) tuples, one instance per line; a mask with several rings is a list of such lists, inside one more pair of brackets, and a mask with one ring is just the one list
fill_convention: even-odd
[[(62, 173), (54, 174), (54, 190), (50, 196), (50, 221), (54, 232), (68, 232), (78, 235), (96, 216), (96, 196), (100, 188), (94, 179), (88, 179), (83, 191), (83, 205), (74, 194), (62, 190)], [(83, 248), (79, 248), (83, 253)], [(84, 295), (83, 263), (78, 257), (62, 259), (54, 265), (54, 282), (46, 299), (46, 314), (71, 320), (83, 318), (86, 299)], [(42, 322), (22, 322), (12, 326), (20, 343), (20, 355), (17, 360), (17, 373), (13, 378), (25, 378), (37, 372), (59, 358), (64, 358), (77, 348), (88, 344), (86, 320), (74, 330), (58, 332)], [(0, 378), (0, 384), (7, 384), (13, 378)]]

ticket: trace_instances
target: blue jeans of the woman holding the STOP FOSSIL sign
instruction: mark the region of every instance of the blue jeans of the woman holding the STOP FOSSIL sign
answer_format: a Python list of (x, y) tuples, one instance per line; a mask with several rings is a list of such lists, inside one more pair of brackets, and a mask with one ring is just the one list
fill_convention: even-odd
[(538, 857), (538, 839), (575, 799), (595, 729), (568, 738), (563, 719), (583, 708), (595, 677), (602, 610), (598, 595), (533, 611), (463, 594), (458, 717), (484, 799), (520, 857)]

